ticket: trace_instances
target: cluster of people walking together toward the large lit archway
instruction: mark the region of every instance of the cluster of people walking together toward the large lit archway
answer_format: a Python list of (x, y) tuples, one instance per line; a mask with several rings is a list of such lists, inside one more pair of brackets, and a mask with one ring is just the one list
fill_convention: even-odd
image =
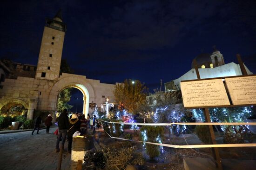
[[(61, 115), (58, 118), (58, 138), (56, 142), (55, 152), (60, 151), (60, 141), (61, 147), (64, 149), (64, 144), (66, 136), (68, 139), (68, 152), (71, 153), (73, 134), (78, 131), (81, 135), (87, 134), (88, 124), (90, 121), (90, 115), (88, 114), (87, 119), (85, 119), (84, 114), (72, 114), (70, 119), (68, 119), (67, 109), (64, 109)], [(95, 130), (96, 125), (96, 116), (94, 115), (93, 126)]]

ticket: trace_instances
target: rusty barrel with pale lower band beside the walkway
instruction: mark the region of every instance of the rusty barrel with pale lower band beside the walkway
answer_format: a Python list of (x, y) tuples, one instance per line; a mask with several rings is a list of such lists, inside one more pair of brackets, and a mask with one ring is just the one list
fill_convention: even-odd
[(84, 135), (84, 138), (73, 138), (71, 151), (71, 170), (77, 170), (79, 160), (83, 160), (86, 152), (94, 147), (93, 135)]

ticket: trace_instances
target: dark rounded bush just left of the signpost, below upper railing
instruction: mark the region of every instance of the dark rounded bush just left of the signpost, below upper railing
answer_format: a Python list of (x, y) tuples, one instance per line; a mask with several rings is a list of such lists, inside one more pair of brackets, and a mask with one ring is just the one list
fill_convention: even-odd
[(211, 144), (209, 127), (206, 125), (195, 126), (195, 133), (204, 144)]

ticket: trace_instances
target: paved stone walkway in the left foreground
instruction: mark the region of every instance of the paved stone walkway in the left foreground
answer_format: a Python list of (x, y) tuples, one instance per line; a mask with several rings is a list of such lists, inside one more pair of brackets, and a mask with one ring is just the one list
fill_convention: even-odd
[[(0, 170), (56, 170), (59, 153), (55, 153), (57, 127), (39, 131), (0, 134)], [(67, 141), (65, 142), (67, 149)], [(70, 154), (63, 153), (61, 170), (70, 168)]]

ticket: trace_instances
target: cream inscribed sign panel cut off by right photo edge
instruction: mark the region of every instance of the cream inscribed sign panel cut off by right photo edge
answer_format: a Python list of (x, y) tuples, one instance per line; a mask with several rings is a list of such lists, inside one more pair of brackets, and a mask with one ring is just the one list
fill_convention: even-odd
[(256, 104), (256, 76), (225, 78), (233, 105)]

